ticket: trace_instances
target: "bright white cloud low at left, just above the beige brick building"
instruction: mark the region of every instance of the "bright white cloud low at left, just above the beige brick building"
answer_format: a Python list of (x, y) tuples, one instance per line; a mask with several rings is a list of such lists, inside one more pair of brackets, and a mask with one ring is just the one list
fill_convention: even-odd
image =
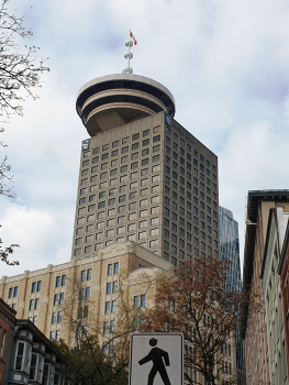
[(69, 260), (67, 231), (51, 212), (10, 204), (1, 216), (0, 223), (3, 246), (20, 245), (10, 257), (12, 261), (18, 260), (20, 266), (1, 264), (1, 276)]

